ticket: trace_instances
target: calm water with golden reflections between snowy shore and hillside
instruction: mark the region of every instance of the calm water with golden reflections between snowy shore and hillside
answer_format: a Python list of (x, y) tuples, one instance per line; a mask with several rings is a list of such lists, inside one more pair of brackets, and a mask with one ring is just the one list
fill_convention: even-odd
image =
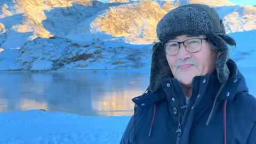
[(132, 115), (149, 71), (1, 72), (0, 111), (46, 109), (89, 116)]

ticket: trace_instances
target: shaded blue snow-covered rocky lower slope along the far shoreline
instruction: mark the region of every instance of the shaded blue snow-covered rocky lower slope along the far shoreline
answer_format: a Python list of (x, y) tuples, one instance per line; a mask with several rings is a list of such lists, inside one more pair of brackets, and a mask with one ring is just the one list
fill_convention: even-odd
[(151, 45), (36, 38), (19, 50), (3, 51), (0, 61), (1, 55), (9, 66), (1, 66), (0, 70), (144, 69), (150, 67)]

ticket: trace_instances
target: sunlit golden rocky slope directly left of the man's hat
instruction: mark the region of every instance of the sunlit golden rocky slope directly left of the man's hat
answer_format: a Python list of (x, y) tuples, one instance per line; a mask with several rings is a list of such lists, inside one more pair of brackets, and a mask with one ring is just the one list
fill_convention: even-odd
[(147, 43), (156, 40), (154, 29), (165, 13), (156, 2), (124, 4), (110, 7), (91, 25), (97, 31), (106, 31), (114, 37), (124, 36), (127, 43)]

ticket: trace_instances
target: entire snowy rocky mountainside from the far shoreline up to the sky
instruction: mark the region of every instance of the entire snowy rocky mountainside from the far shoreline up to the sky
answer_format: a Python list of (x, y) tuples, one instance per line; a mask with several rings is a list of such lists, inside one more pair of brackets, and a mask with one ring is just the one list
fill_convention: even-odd
[[(148, 68), (157, 22), (188, 3), (206, 1), (0, 0), (0, 69)], [(256, 29), (255, 6), (207, 4), (218, 11), (227, 33)]]

